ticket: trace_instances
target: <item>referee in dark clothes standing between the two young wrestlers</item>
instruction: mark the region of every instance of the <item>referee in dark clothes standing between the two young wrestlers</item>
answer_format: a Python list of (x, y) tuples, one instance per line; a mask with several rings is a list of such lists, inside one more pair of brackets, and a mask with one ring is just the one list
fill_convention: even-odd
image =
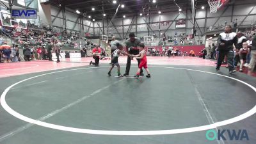
[[(140, 38), (136, 38), (134, 33), (130, 33), (129, 39), (127, 39), (125, 42), (126, 52), (128, 54), (134, 54), (134, 55), (140, 54), (140, 50), (138, 49), (139, 44), (140, 44)], [(137, 59), (137, 61), (138, 61), (138, 65), (140, 65), (141, 60)], [(129, 76), (130, 68), (131, 68), (131, 57), (127, 56), (126, 70), (125, 70), (124, 76)], [(140, 76), (144, 76), (142, 68), (140, 71)]]

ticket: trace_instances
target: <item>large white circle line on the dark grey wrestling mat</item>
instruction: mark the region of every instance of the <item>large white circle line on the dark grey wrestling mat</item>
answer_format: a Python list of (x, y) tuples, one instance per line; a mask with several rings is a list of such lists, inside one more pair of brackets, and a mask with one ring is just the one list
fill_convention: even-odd
[[(152, 67), (154, 67), (154, 66), (152, 66)], [(97, 68), (97, 67), (93, 67), (93, 68)], [(99, 68), (103, 68), (103, 67), (99, 67)], [(156, 67), (156, 68), (173, 68), (173, 69), (180, 69), (180, 70), (191, 70), (191, 71), (195, 71), (195, 72), (204, 72), (206, 74), (214, 74), (216, 76), (227, 77), (229, 79), (233, 79), (235, 81), (243, 83), (246, 86), (249, 86), (250, 88), (252, 88), (252, 90), (254, 92), (256, 92), (255, 87), (253, 87), (252, 85), (250, 85), (248, 83), (245, 83), (244, 81), (241, 81), (239, 79), (235, 79), (234, 77), (224, 76), (224, 75), (221, 75), (221, 74), (215, 74), (213, 72), (205, 72), (205, 71), (202, 71), (202, 70), (193, 70), (193, 69), (188, 69), (188, 68), (175, 68), (175, 67)], [(70, 69), (70, 70), (61, 70), (61, 71), (58, 71), (58, 72), (67, 72), (67, 71), (81, 70), (81, 69), (88, 69), (88, 68), (76, 68), (76, 69)], [(66, 126), (63, 126), (63, 125), (55, 125), (55, 124), (49, 124), (47, 122), (41, 122), (39, 120), (34, 120), (34, 119), (29, 118), (27, 116), (21, 115), (20, 113), (17, 113), (12, 108), (10, 108), (10, 106), (8, 106), (8, 104), (6, 104), (6, 100), (5, 100), (6, 93), (8, 93), (10, 88), (12, 88), (13, 86), (15, 86), (19, 83), (22, 83), (24, 81), (28, 81), (29, 79), (33, 79), (35, 77), (45, 76), (45, 75), (49, 75), (49, 74), (55, 74), (55, 73), (58, 73), (58, 72), (50, 72), (50, 73), (47, 73), (47, 74), (41, 74), (39, 76), (30, 77), (28, 79), (24, 79), (24, 80), (19, 81), (15, 84), (12, 84), (8, 88), (6, 88), (4, 90), (4, 92), (2, 93), (2, 95), (1, 95), (1, 105), (3, 106), (3, 108), (8, 113), (10, 113), (11, 115), (19, 118), (20, 120), (24, 120), (25, 122), (29, 122), (31, 124), (41, 125), (42, 127), (48, 127), (48, 128), (51, 128), (51, 129), (57, 129), (57, 130), (61, 130), (61, 131), (86, 133), (86, 134), (127, 135), (127, 136), (128, 135), (129, 136), (141, 136), (141, 135), (180, 134), (180, 133), (186, 133), (186, 132), (205, 131), (205, 130), (209, 130), (209, 129), (216, 129), (216, 127), (221, 127), (223, 125), (228, 125), (228, 124), (232, 124), (232, 123), (235, 123), (235, 122), (239, 122), (240, 120), (244, 120), (245, 118), (248, 118), (249, 116), (252, 116), (256, 113), (256, 106), (254, 106), (252, 109), (250, 109), (246, 113), (243, 113), (242, 115), (236, 116), (234, 118), (230, 118), (228, 120), (223, 120), (221, 122), (216, 122), (214, 124), (202, 125), (202, 126), (198, 126), (198, 127), (189, 127), (189, 128), (184, 128), (184, 129), (170, 129), (170, 130), (159, 130), (159, 131), (104, 131), (104, 130), (94, 130), (94, 129), (79, 129), (79, 128), (75, 128), (75, 127), (66, 127)]]

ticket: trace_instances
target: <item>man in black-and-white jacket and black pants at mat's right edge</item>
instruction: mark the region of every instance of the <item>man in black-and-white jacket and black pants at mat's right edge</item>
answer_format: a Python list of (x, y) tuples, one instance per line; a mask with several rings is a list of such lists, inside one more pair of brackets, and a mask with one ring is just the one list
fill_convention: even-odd
[(236, 33), (232, 32), (232, 26), (227, 25), (225, 26), (225, 32), (220, 33), (217, 40), (219, 56), (218, 56), (216, 70), (218, 72), (220, 72), (220, 66), (225, 56), (227, 56), (227, 60), (228, 60), (229, 74), (236, 72), (234, 68), (234, 51), (233, 51), (234, 44), (237, 44)]

